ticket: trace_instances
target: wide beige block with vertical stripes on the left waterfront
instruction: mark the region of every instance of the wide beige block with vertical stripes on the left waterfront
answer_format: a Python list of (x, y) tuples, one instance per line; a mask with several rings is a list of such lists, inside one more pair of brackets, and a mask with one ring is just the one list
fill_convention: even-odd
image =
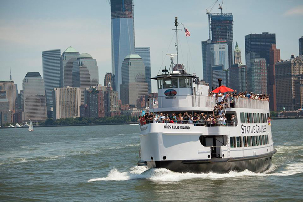
[(55, 88), (53, 92), (54, 118), (80, 117), (80, 88)]

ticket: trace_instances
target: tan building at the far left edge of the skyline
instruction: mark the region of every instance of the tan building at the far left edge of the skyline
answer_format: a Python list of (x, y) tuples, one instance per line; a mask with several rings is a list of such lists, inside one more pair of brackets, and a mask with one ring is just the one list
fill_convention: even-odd
[(16, 86), (12, 80), (0, 80), (0, 90), (6, 91), (6, 98), (9, 101), (10, 111), (15, 110), (16, 105)]

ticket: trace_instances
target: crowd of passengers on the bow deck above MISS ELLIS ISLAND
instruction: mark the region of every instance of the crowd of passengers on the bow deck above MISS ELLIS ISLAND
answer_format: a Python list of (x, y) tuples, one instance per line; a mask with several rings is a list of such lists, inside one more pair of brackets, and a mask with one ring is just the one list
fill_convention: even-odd
[(144, 116), (140, 116), (139, 120), (141, 125), (148, 123), (179, 123), (179, 124), (193, 124), (195, 126), (226, 126), (227, 123), (230, 126), (236, 125), (236, 116), (231, 115), (231, 120), (227, 120), (226, 116), (223, 115), (222, 108), (217, 109), (215, 106), (213, 114), (207, 116), (205, 113), (193, 113), (188, 114), (185, 112), (183, 115), (181, 113), (172, 113), (168, 115), (167, 113), (160, 112), (150, 112), (146, 113)]

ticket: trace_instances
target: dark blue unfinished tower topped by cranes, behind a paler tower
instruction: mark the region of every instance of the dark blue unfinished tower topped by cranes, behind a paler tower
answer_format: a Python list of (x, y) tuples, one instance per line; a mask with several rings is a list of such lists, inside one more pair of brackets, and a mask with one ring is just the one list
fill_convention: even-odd
[(211, 13), (211, 30), (213, 43), (227, 43), (228, 45), (228, 69), (233, 64), (232, 13)]

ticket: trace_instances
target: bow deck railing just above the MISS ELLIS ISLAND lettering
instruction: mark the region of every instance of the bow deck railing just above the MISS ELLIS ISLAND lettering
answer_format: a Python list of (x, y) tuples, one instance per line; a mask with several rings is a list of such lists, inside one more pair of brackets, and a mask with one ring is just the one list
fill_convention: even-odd
[(204, 120), (146, 120), (141, 121), (141, 126), (149, 124), (149, 123), (172, 123), (172, 124), (186, 124), (186, 125), (194, 125), (194, 126), (206, 126), (206, 127), (214, 127), (214, 126), (232, 126), (236, 127), (238, 125), (238, 121), (204, 121)]

